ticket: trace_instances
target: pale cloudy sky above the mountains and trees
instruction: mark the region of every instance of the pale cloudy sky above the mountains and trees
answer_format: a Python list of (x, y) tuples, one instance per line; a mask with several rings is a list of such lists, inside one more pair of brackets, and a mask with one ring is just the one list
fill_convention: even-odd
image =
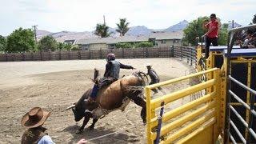
[(116, 27), (119, 18), (130, 26), (165, 29), (182, 20), (217, 14), (223, 22), (248, 25), (256, 0), (0, 0), (0, 35), (18, 27), (58, 32), (91, 31), (103, 22)]

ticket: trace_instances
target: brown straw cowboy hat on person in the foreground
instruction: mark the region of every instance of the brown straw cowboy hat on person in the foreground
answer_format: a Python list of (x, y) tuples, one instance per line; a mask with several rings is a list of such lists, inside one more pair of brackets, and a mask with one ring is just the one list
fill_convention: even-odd
[(50, 112), (44, 111), (40, 107), (34, 107), (22, 117), (22, 126), (26, 128), (42, 126), (49, 116)]

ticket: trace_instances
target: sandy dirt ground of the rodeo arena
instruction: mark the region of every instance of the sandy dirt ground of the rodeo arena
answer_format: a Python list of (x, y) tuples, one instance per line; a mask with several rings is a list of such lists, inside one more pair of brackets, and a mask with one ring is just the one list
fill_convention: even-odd
[[(161, 81), (183, 76), (190, 69), (174, 58), (121, 59), (120, 62), (145, 72), (146, 63), (150, 63)], [(140, 118), (141, 108), (133, 102), (124, 112), (114, 111), (100, 119), (94, 130), (86, 128), (82, 134), (75, 134), (82, 121), (74, 122), (71, 110), (65, 109), (93, 86), (89, 77), (93, 76), (94, 67), (103, 74), (105, 64), (105, 60), (0, 62), (0, 143), (20, 143), (25, 130), (20, 120), (34, 106), (51, 112), (44, 126), (56, 143), (75, 143), (81, 138), (89, 140), (114, 132), (90, 142), (145, 143), (146, 126)], [(120, 75), (132, 72), (121, 70)]]

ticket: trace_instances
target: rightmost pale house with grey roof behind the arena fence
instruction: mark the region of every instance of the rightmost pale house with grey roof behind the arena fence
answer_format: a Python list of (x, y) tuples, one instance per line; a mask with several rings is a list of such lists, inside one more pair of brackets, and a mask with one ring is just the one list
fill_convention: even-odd
[(164, 32), (158, 31), (150, 34), (150, 41), (154, 42), (154, 46), (181, 46), (183, 31)]

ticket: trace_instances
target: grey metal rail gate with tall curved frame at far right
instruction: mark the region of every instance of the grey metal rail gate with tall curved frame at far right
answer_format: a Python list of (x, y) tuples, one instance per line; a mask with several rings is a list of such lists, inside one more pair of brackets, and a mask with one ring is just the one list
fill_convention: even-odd
[[(253, 118), (255, 116), (254, 103), (255, 103), (256, 93), (254, 90), (251, 90), (249, 86), (243, 85), (242, 82), (238, 82), (238, 80), (236, 80), (235, 78), (232, 78), (231, 71), (230, 71), (230, 65), (231, 65), (231, 56), (230, 55), (231, 55), (232, 48), (234, 46), (235, 38), (238, 36), (240, 31), (249, 30), (249, 29), (256, 29), (256, 24), (250, 25), (250, 26), (242, 26), (242, 27), (234, 28), (229, 31), (229, 39), (228, 39), (229, 43), (227, 45), (227, 56), (226, 56), (226, 59), (227, 59), (226, 79), (227, 79), (227, 81), (226, 81), (226, 110), (225, 110), (226, 111), (226, 116), (225, 116), (226, 122), (225, 122), (225, 130), (224, 130), (224, 142), (225, 143), (229, 143), (230, 140), (233, 143), (236, 143), (234, 137), (232, 136), (232, 134), (230, 134), (230, 124), (232, 125), (232, 123), (230, 123), (230, 110), (232, 110), (230, 107), (230, 97), (237, 99), (238, 102), (242, 104), (242, 106), (246, 107), (246, 109), (249, 108), (248, 105), (245, 105), (245, 102), (242, 102), (242, 99), (240, 99), (236, 94), (232, 93), (231, 82), (238, 84), (238, 86), (242, 87), (243, 90), (246, 90), (247, 92), (250, 93), (250, 110), (249, 110), (250, 118), (249, 118), (249, 123), (247, 123), (248, 126), (246, 126), (246, 128), (249, 129), (248, 131), (246, 131), (246, 134), (249, 134), (249, 137), (246, 138), (246, 143), (251, 142), (252, 137), (254, 137), (256, 140), (255, 131), (251, 129)], [(240, 122), (242, 122), (239, 117), (238, 117), (238, 120)], [(238, 133), (236, 130), (235, 130), (235, 132)], [(240, 136), (239, 136), (239, 138), (241, 139)], [(242, 141), (242, 142), (244, 142), (244, 141)]]

